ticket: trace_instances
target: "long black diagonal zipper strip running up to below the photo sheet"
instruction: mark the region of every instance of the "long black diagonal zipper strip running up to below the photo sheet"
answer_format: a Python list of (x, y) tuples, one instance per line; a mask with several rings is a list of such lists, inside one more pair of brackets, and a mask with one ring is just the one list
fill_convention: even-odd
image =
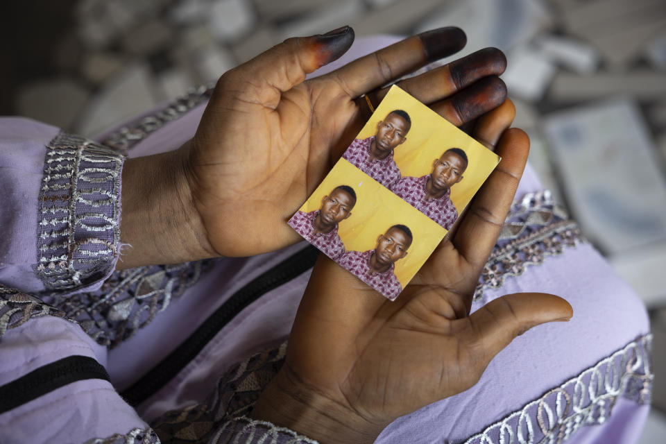
[(280, 264), (257, 276), (243, 288), (234, 293), (226, 302), (214, 311), (176, 350), (169, 353), (159, 364), (148, 371), (137, 382), (126, 388), (121, 396), (131, 405), (137, 406), (162, 388), (182, 368), (203, 350), (222, 327), (245, 307), (280, 285), (296, 278), (314, 266), (319, 251), (307, 246), (284, 259)]

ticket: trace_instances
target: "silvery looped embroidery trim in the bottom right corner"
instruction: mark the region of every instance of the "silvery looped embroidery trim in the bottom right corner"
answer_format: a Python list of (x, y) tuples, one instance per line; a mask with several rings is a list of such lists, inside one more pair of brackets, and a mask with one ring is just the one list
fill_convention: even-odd
[(617, 398), (648, 404), (651, 340), (651, 334), (640, 336), (464, 444), (563, 443), (581, 427), (608, 419)]

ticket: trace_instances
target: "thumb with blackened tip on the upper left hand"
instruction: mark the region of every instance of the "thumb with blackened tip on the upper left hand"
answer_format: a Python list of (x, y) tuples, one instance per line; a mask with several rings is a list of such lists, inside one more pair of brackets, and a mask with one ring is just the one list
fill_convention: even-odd
[(251, 78), (260, 89), (271, 87), (284, 92), (305, 80), (306, 74), (340, 58), (352, 42), (354, 30), (350, 26), (310, 37), (292, 37), (227, 74)]

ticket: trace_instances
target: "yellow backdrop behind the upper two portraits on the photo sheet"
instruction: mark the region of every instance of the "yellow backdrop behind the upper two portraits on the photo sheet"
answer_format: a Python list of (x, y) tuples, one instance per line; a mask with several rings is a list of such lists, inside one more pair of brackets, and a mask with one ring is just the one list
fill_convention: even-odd
[(461, 213), (497, 166), (499, 156), (395, 85), (379, 103), (357, 139), (375, 135), (377, 123), (393, 110), (404, 110), (411, 119), (407, 140), (393, 151), (393, 160), (403, 177), (431, 173), (434, 160), (449, 148), (461, 148), (467, 154), (469, 162), (463, 180), (451, 187), (451, 200)]

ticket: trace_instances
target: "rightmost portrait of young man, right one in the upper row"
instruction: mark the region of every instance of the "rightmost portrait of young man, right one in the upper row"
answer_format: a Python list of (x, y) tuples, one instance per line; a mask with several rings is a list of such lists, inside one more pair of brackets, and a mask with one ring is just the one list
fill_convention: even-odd
[(450, 230), (458, 219), (458, 210), (451, 201), (451, 187), (463, 180), (468, 162), (468, 157), (461, 148), (449, 148), (434, 160), (429, 174), (401, 178), (391, 191), (446, 230)]

